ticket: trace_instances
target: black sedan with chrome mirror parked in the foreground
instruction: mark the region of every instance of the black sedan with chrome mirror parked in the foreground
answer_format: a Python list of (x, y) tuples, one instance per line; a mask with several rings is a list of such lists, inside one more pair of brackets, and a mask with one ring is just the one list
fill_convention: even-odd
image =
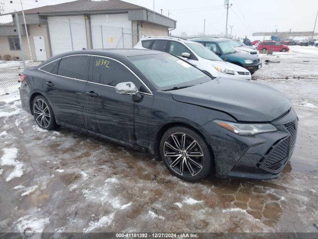
[(20, 75), (25, 110), (47, 130), (89, 132), (160, 155), (175, 176), (270, 179), (292, 155), (297, 115), (278, 91), (211, 78), (167, 53), (83, 50)]

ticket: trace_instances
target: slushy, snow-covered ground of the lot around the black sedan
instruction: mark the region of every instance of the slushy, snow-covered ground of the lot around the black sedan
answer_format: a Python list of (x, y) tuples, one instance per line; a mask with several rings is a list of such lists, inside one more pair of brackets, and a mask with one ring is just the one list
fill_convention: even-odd
[(0, 232), (318, 232), (318, 48), (260, 56), (253, 80), (300, 118), (291, 161), (268, 181), (184, 182), (148, 154), (42, 130), (18, 94), (1, 96)]

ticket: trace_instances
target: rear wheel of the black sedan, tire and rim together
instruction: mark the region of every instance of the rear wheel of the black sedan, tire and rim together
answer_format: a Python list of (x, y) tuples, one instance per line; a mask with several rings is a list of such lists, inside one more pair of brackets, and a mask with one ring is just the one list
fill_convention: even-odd
[(41, 128), (46, 130), (53, 130), (56, 128), (56, 122), (52, 107), (47, 99), (43, 96), (36, 96), (32, 103), (32, 111), (35, 122)]

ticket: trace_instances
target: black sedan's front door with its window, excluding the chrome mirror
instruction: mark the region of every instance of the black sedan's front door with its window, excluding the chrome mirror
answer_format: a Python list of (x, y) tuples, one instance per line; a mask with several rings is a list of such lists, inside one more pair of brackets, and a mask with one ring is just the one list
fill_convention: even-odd
[(85, 91), (85, 109), (88, 129), (106, 136), (148, 146), (149, 125), (153, 96), (134, 96), (116, 93), (121, 82), (133, 82), (140, 92), (146, 92), (141, 81), (119, 61), (92, 56), (92, 74)]

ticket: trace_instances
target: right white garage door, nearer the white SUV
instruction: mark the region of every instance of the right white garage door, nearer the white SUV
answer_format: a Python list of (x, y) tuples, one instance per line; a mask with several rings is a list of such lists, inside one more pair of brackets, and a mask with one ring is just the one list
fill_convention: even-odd
[(94, 49), (133, 47), (131, 21), (127, 13), (91, 15), (90, 24)]

